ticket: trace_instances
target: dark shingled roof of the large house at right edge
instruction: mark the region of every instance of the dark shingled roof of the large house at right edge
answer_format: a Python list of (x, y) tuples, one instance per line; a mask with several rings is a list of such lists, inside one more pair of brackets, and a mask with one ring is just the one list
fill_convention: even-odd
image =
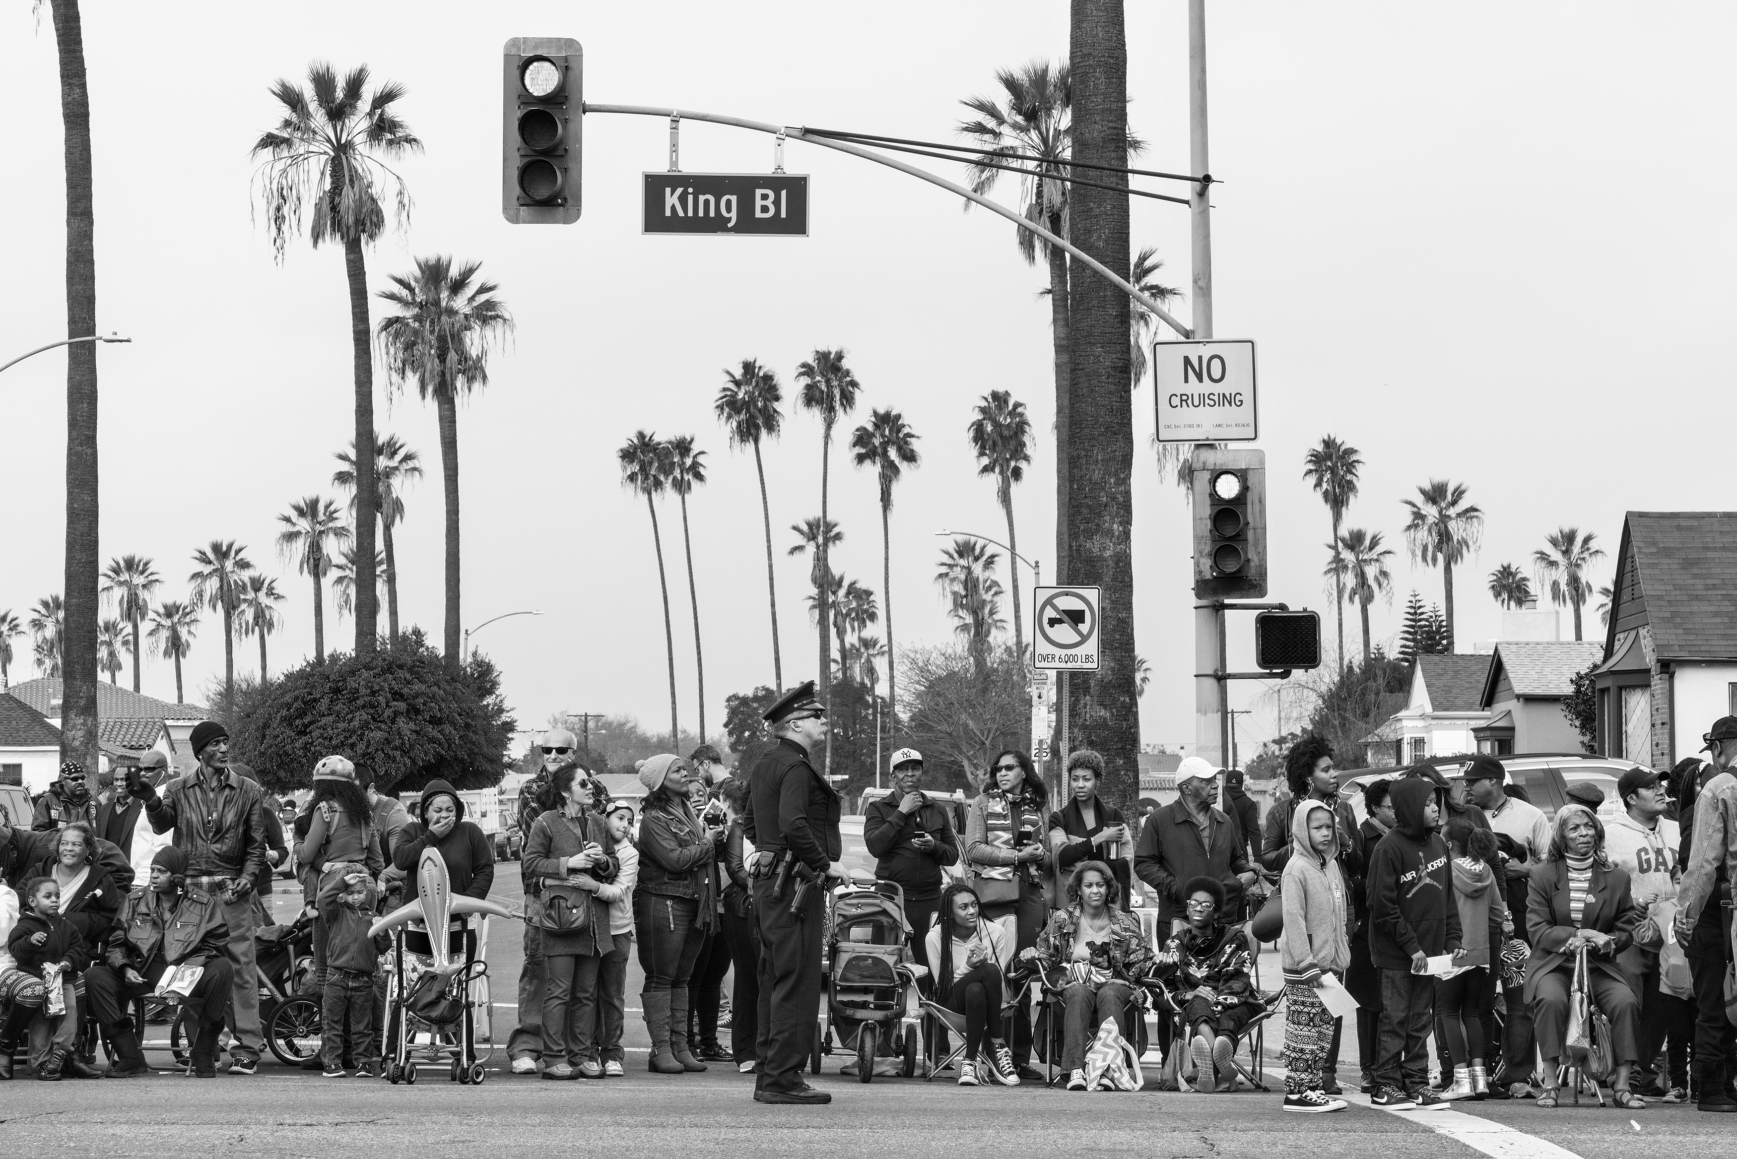
[[(1633, 558), (1661, 660), (1737, 660), (1737, 511), (1629, 511), (1617, 575)], [(1617, 584), (1605, 631), (1615, 646), (1629, 586)]]

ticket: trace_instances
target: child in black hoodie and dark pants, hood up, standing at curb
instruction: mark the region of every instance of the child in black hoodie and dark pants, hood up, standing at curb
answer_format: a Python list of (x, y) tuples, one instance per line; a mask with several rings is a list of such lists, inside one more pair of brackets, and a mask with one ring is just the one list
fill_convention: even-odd
[(1426, 1043), (1435, 1013), (1428, 959), (1463, 956), (1459, 907), (1452, 902), (1447, 844), (1435, 834), (1442, 791), (1405, 775), (1388, 792), (1393, 831), (1369, 858), (1369, 957), (1381, 970), (1381, 1029), (1376, 1050), (1377, 1107), (1435, 1110)]

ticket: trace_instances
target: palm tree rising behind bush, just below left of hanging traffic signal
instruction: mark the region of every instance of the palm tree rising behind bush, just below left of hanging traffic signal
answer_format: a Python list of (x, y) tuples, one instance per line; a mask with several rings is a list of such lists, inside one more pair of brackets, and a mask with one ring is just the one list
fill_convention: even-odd
[[(446, 495), (446, 664), (464, 652), (459, 617), (459, 398), (488, 386), (488, 351), (512, 330), (512, 315), (495, 297), (493, 281), (478, 281), (479, 262), (453, 269), (450, 257), (419, 257), (413, 275), (393, 275), (394, 290), (380, 297), (398, 313), (380, 320), (386, 372), (393, 382), (415, 382), (422, 401), (434, 400), (439, 419), (441, 487)], [(360, 500), (360, 493), (358, 493)], [(356, 551), (368, 554), (373, 537)], [(363, 560), (367, 566), (367, 560)], [(372, 586), (372, 577), (358, 582)], [(361, 605), (358, 605), (360, 608)]]

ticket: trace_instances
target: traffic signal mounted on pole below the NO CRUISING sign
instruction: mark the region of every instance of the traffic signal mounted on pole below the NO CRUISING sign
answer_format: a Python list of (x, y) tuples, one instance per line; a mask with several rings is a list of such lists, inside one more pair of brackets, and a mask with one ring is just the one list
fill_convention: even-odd
[(1195, 447), (1190, 471), (1195, 596), (1265, 596), (1266, 452)]

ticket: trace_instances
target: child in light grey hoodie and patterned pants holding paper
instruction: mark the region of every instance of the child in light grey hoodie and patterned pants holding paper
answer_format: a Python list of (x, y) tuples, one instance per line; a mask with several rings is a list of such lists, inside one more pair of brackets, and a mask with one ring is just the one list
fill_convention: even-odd
[(1339, 827), (1322, 801), (1303, 801), (1291, 817), (1291, 857), (1282, 888), (1284, 926), (1278, 957), (1285, 971), (1285, 1102), (1284, 1110), (1320, 1114), (1344, 1110), (1343, 1098), (1322, 1089), (1322, 1067), (1332, 1044), (1332, 1015), (1317, 990), (1341, 985), (1351, 964), (1344, 876), (1339, 872)]

